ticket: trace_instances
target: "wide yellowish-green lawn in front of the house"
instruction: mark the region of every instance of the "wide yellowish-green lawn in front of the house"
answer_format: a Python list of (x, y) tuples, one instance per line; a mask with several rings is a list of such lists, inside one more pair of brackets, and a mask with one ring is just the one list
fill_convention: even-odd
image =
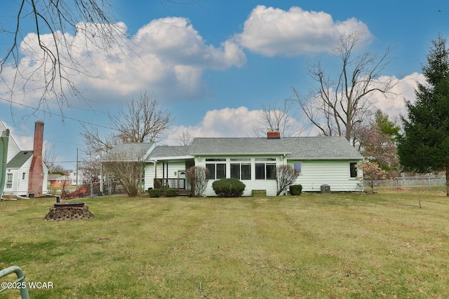
[(59, 222), (53, 200), (0, 202), (0, 268), (53, 283), (31, 298), (449, 294), (445, 193), (84, 201), (95, 218)]

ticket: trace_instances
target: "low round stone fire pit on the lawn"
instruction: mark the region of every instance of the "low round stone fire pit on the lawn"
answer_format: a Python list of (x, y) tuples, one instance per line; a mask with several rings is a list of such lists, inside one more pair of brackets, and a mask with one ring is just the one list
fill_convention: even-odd
[(71, 220), (93, 218), (89, 207), (84, 202), (57, 202), (50, 208), (43, 220)]

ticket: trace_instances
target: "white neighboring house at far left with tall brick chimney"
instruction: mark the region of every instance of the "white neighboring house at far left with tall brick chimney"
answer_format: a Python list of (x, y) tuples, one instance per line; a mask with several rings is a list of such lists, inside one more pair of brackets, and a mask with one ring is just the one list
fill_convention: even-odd
[[(41, 159), (43, 123), (36, 122), (36, 127), (39, 127), (39, 130), (35, 130), (35, 134), (38, 132), (39, 136), (36, 136), (37, 139), (34, 138), (35, 144), (32, 151), (21, 151), (13, 139), (13, 134), (9, 135), (4, 195), (38, 197), (48, 193), (48, 169)], [(6, 127), (0, 120), (0, 131), (3, 130), (6, 130)], [(32, 165), (36, 166), (32, 167)], [(32, 177), (36, 179), (30, 179)]]

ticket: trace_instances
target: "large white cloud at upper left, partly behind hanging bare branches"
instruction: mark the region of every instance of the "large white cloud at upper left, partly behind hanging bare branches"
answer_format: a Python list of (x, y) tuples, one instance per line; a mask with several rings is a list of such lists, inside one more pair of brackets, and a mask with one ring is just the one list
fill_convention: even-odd
[[(81, 26), (80, 24), (79, 26)], [(89, 26), (89, 25), (87, 25)], [(183, 99), (201, 99), (209, 90), (203, 81), (206, 69), (224, 70), (230, 67), (241, 67), (246, 63), (243, 50), (233, 41), (224, 41), (219, 47), (208, 45), (186, 18), (161, 18), (149, 22), (128, 38), (126, 26), (119, 23), (121, 32), (116, 32), (116, 40), (122, 43), (121, 48), (114, 47), (109, 51), (95, 47), (100, 33), (86, 38), (80, 32), (76, 36), (66, 35), (71, 42), (72, 57), (81, 62), (78, 69), (83, 69), (90, 76), (79, 76), (68, 60), (71, 79), (80, 90), (90, 95), (102, 97), (95, 99), (95, 104), (105, 104), (123, 97), (133, 95), (140, 90), (150, 90), (163, 97), (165, 101)], [(93, 30), (93, 29), (91, 29)], [(52, 36), (43, 34), (42, 41), (51, 43)], [(22, 54), (20, 72), (34, 74), (28, 81), (28, 90), (39, 90), (36, 84), (43, 84), (39, 72), (35, 72), (41, 61), (41, 52), (36, 43), (36, 34), (28, 34), (21, 43)], [(101, 42), (101, 41), (99, 41)], [(125, 46), (126, 44), (126, 46)], [(67, 57), (64, 53), (63, 57)], [(4, 67), (2, 78), (6, 83), (13, 81), (15, 69)], [(19, 88), (21, 86), (18, 85)], [(4, 84), (0, 95), (8, 94), (8, 86)], [(25, 95), (16, 90), (20, 97)], [(67, 92), (67, 90), (66, 90)], [(41, 93), (27, 93), (27, 101), (39, 101)]]

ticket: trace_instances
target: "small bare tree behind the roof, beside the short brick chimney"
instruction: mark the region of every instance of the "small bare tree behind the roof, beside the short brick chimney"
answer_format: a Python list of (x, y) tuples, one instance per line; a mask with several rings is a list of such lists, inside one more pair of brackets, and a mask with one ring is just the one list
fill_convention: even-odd
[(279, 130), (282, 137), (297, 137), (304, 132), (296, 120), (288, 116), (293, 109), (292, 102), (283, 101), (260, 105), (260, 116), (250, 125), (251, 134), (266, 137), (267, 130)]

